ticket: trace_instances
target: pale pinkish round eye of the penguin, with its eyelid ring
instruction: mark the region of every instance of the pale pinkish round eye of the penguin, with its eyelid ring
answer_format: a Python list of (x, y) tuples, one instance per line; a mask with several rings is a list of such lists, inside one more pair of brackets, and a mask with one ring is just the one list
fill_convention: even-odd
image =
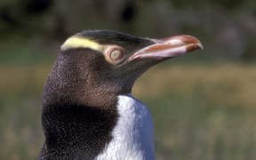
[(106, 59), (111, 64), (117, 65), (124, 61), (125, 52), (123, 48), (120, 47), (111, 47), (107, 50)]

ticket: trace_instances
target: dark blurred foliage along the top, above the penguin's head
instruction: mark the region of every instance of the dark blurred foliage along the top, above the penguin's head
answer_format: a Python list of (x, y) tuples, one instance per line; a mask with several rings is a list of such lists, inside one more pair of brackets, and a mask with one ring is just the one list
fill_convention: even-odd
[(141, 36), (199, 36), (211, 56), (252, 60), (253, 0), (12, 0), (0, 2), (0, 33), (63, 41), (78, 31), (111, 28)]

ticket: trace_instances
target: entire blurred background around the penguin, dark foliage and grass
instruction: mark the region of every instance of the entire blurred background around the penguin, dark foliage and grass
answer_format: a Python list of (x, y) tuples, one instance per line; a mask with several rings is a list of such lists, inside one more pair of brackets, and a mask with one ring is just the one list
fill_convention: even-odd
[(134, 86), (154, 117), (157, 159), (256, 159), (255, 0), (1, 0), (0, 159), (36, 159), (41, 92), (60, 44), (96, 28), (204, 44)]

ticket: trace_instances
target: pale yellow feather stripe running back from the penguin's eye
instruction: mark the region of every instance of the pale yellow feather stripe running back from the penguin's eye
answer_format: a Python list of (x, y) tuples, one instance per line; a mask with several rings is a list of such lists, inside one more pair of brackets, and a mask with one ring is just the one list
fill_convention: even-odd
[(95, 51), (103, 52), (105, 46), (82, 36), (71, 36), (61, 45), (60, 50), (65, 51), (75, 48), (90, 48)]

